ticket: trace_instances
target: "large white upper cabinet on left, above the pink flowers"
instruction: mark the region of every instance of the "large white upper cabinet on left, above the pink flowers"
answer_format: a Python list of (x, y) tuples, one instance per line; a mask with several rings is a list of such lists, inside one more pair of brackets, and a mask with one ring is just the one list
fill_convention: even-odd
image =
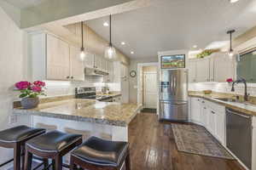
[(79, 48), (47, 33), (30, 35), (33, 80), (84, 81)]

